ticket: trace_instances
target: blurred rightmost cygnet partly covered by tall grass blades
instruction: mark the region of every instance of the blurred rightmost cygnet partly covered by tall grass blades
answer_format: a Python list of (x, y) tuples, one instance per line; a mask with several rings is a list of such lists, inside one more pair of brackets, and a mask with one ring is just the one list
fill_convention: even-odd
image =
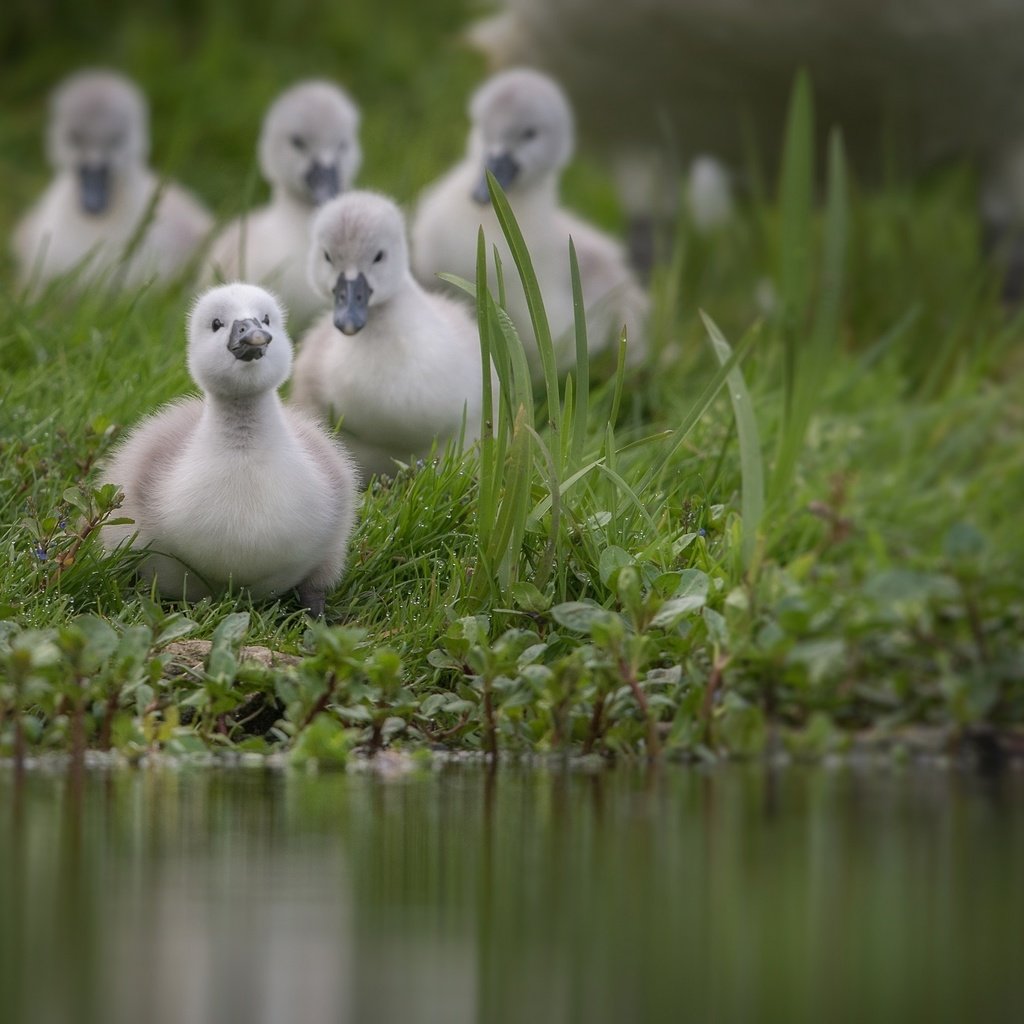
[(477, 90), (469, 114), (465, 160), (431, 185), (419, 204), (412, 229), (417, 276), (428, 287), (436, 286), (442, 271), (474, 280), (482, 224), (488, 246), (497, 244), (501, 253), (508, 310), (539, 372), (525, 293), (487, 197), (484, 171), (489, 170), (505, 189), (529, 249), (559, 370), (575, 358), (570, 236), (580, 260), (591, 351), (616, 341), (625, 325), (635, 360), (643, 351), (647, 297), (623, 247), (559, 205), (558, 179), (573, 146), (572, 112), (561, 88), (539, 72), (504, 72)]

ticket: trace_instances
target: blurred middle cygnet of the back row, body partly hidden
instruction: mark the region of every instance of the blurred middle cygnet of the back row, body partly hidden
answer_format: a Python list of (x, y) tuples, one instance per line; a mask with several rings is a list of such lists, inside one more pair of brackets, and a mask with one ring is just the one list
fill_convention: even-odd
[(350, 188), (362, 154), (359, 113), (332, 82), (301, 82), (270, 105), (259, 162), (270, 202), (232, 221), (210, 249), (206, 281), (244, 278), (272, 288), (293, 324), (324, 306), (306, 275), (309, 231), (319, 206)]

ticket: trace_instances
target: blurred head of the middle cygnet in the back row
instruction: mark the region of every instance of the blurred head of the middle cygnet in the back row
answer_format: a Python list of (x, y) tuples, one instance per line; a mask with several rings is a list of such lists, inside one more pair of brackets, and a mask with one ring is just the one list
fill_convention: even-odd
[(300, 82), (263, 119), (259, 161), (274, 188), (321, 206), (350, 188), (362, 161), (359, 112), (331, 82)]

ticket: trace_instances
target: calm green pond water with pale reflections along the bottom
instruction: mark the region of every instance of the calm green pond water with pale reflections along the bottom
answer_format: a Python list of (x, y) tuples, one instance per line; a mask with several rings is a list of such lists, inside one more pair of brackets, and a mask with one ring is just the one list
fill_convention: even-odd
[(0, 769), (4, 1024), (1024, 1020), (1024, 776)]

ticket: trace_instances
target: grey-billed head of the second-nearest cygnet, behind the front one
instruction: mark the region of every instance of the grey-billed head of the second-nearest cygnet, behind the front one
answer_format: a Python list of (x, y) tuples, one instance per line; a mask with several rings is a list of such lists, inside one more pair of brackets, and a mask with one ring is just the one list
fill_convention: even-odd
[(334, 296), (334, 326), (356, 334), (370, 309), (387, 302), (410, 280), (406, 221), (391, 200), (351, 191), (316, 214), (309, 250), (309, 280)]

